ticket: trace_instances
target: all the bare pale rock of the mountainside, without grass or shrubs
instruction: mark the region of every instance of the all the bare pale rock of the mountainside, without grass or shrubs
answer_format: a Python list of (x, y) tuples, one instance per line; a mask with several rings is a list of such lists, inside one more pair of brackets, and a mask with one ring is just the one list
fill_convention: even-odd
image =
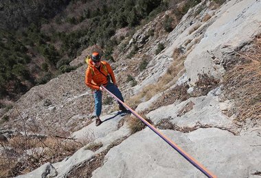
[[(212, 1), (203, 1), (190, 9), (169, 34), (162, 32), (162, 36), (148, 37), (149, 29), (158, 28), (166, 14), (137, 31), (126, 51), (115, 51), (115, 56), (119, 56), (113, 64), (117, 67), (116, 77), (127, 75), (128, 67), (137, 70), (141, 53), (150, 56), (146, 69), (135, 75), (137, 86), (131, 88), (120, 79), (125, 86), (122, 88), (124, 94), (138, 94), (144, 86), (162, 79), (168, 73), (168, 66), (177, 60), (173, 58), (174, 50), (185, 58), (185, 74), (174, 84), (170, 82), (168, 88), (188, 84), (192, 93), (198, 75), (206, 73), (222, 78), (225, 60), (261, 33), (260, 0), (231, 0), (216, 9)], [(166, 48), (154, 56), (159, 42)], [(137, 59), (123, 62), (133, 43), (139, 47)], [(84, 60), (84, 55), (73, 64), (79, 64), (80, 58)], [(127, 122), (123, 122), (129, 119), (126, 114), (103, 113), (102, 125), (95, 127), (92, 122), (84, 127), (82, 122), (85, 118), (91, 119), (93, 108), (91, 91), (84, 85), (84, 68), (86, 66), (81, 66), (48, 84), (32, 88), (16, 105), (28, 122), (46, 120), (49, 125), (70, 128), (71, 136), (75, 138), (89, 136), (89, 144), (62, 162), (44, 164), (21, 177), (69, 177), (82, 166), (90, 168), (88, 165), (98, 159), (98, 155), (104, 155), (102, 162), (91, 170), (91, 175), (82, 177), (205, 177), (148, 127), (131, 135)], [(137, 111), (146, 111), (169, 90), (141, 102)], [(261, 173), (261, 125), (238, 128), (233, 122), (234, 116), (225, 114), (232, 107), (232, 101), (220, 101), (221, 94), (218, 87), (206, 96), (190, 97), (182, 102), (174, 100), (172, 104), (150, 110), (146, 117), (217, 177), (258, 177)], [(8, 114), (14, 120), (19, 117), (15, 110)], [(92, 144), (100, 147), (92, 151)]]

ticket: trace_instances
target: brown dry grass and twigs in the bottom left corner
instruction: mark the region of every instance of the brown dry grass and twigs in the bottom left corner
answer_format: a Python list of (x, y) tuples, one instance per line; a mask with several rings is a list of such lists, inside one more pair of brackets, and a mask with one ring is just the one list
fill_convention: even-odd
[(14, 177), (29, 173), (46, 162), (59, 162), (80, 149), (82, 143), (54, 136), (14, 136), (4, 147), (6, 149), (0, 155), (0, 170), (5, 171), (0, 171), (0, 177)]

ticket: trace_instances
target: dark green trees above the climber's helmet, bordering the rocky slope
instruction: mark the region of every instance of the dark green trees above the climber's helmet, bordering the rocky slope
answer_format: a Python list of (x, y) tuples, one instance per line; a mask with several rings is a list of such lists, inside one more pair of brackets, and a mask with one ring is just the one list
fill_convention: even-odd
[[(111, 5), (103, 3), (98, 8), (87, 8), (82, 12), (82, 18), (89, 18), (88, 27), (91, 28), (60, 36), (62, 51), (70, 58), (75, 58), (82, 47), (86, 48), (97, 43), (101, 47), (109, 46), (109, 39), (115, 34), (116, 28), (136, 27), (150, 12), (155, 9), (157, 9), (155, 12), (161, 12), (165, 8), (166, 3), (162, 3), (162, 0), (120, 0), (112, 1)], [(157, 13), (153, 15), (156, 16)], [(73, 19), (71, 21), (75, 23)], [(115, 45), (117, 43), (110, 44), (111, 47)], [(134, 54), (135, 51), (131, 53)]]

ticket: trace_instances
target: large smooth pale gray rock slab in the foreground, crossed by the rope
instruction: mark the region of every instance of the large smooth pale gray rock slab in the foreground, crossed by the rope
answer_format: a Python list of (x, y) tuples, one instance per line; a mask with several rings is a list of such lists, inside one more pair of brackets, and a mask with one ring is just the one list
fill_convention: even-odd
[[(216, 128), (162, 133), (217, 177), (254, 177), (261, 168), (261, 149), (253, 147), (258, 137)], [(148, 128), (111, 149), (105, 160), (93, 177), (205, 177)]]

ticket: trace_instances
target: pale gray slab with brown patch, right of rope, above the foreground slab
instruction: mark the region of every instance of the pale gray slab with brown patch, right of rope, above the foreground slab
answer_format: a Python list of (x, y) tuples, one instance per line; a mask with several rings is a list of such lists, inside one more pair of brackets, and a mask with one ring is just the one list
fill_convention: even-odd
[[(193, 109), (178, 117), (178, 112), (190, 101), (195, 104)], [(217, 97), (203, 96), (190, 98), (179, 104), (174, 103), (159, 107), (157, 110), (149, 112), (146, 116), (155, 124), (163, 118), (168, 118), (179, 127), (194, 127), (197, 123), (228, 127), (231, 124), (231, 120), (220, 111), (219, 107)]]

